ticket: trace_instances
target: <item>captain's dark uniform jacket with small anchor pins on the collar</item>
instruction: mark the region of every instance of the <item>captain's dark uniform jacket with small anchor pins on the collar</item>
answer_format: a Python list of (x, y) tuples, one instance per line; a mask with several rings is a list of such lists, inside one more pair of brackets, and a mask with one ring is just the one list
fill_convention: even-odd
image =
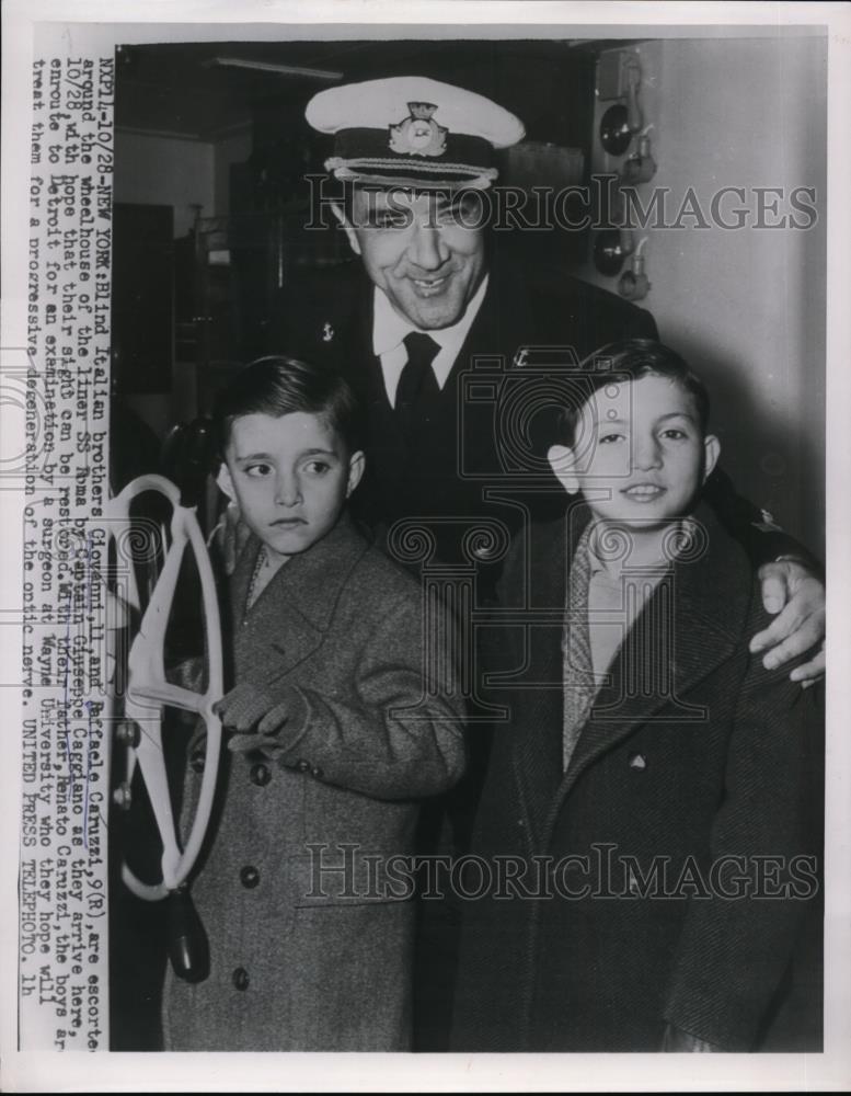
[[(452, 562), (464, 558), (463, 535), (476, 518), (495, 517), (509, 533), (521, 524), (521, 509), (485, 499), (488, 486), (516, 481), (537, 514), (563, 510), (561, 488), (541, 460), (552, 441), (548, 412), (539, 409), (533, 416), (529, 444), (521, 436), (537, 378), (515, 366), (518, 352), (563, 347), (554, 355), (557, 369), (571, 359), (567, 347), (578, 364), (612, 340), (656, 334), (648, 312), (613, 294), (495, 262), (447, 384), (403, 434), (372, 353), (372, 301), (373, 286), (359, 261), (306, 274), (281, 297), (268, 350), (325, 362), (349, 378), (366, 408), (367, 470), (354, 500), (358, 513), (372, 526), (423, 517), (437, 536), (438, 558)], [(529, 377), (527, 400), (517, 387), (521, 369)], [(478, 386), (470, 384), (474, 373)], [(531, 478), (549, 488), (549, 498), (528, 493)]]

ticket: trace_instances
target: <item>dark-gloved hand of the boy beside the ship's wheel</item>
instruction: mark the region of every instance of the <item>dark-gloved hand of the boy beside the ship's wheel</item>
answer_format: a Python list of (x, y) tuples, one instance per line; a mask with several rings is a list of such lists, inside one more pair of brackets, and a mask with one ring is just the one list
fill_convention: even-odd
[(290, 738), (280, 739), (280, 732), (298, 731), (307, 718), (307, 701), (291, 685), (273, 699), (256, 686), (243, 682), (212, 706), (228, 730), (235, 731), (228, 742), (233, 753), (260, 750), (271, 760), (290, 745)]

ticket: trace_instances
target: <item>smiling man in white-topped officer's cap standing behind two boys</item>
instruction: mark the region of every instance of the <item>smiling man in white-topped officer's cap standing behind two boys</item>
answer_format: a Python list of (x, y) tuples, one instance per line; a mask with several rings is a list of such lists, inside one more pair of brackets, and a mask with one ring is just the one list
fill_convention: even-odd
[[(482, 224), (482, 197), (497, 179), (499, 150), (521, 140), (524, 126), (491, 100), (399, 77), (322, 91), (306, 116), (333, 138), (325, 167), (338, 184), (334, 212), (357, 259), (287, 287), (268, 349), (326, 362), (359, 390), (368, 439), (367, 475), (354, 498), (360, 516), (384, 530), (400, 518), (422, 521), (437, 557), (462, 561), (471, 526), (495, 520), (514, 532), (524, 515), (521, 506), (485, 496), (488, 481), (505, 470), (501, 432), (513, 427), (497, 421), (495, 389), (480, 400), (462, 387), (476, 359), (519, 370), (522, 347), (570, 346), (584, 361), (619, 339), (656, 338), (656, 324), (613, 294), (499, 259), (497, 233)], [(528, 439), (519, 441), (522, 448)], [(824, 633), (823, 591), (805, 567), (771, 562), (803, 551), (758, 532), (758, 512), (723, 479), (716, 495), (720, 515), (754, 564), (766, 564), (763, 596), (779, 590), (781, 604), (792, 597), (800, 607), (770, 637), (773, 644), (787, 640), (782, 653), (792, 659)], [(561, 489), (545, 500), (538, 492), (525, 503), (533, 513), (561, 505)], [(488, 578), (493, 572), (480, 567), (480, 596), (487, 596)], [(793, 617), (804, 624), (793, 626)], [(814, 674), (820, 669), (814, 662)], [(472, 768), (480, 777), (483, 762)], [(455, 797), (461, 846), (476, 783)], [(434, 943), (440, 931), (429, 934)], [(451, 959), (446, 948), (426, 947), (421, 964), (417, 1044), (445, 1049)]]

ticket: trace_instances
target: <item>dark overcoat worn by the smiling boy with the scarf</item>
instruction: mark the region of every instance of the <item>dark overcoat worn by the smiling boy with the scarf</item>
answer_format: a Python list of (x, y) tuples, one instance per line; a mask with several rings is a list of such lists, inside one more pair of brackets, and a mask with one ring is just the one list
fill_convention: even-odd
[[(565, 564), (587, 511), (572, 510), (566, 528), (533, 526), (514, 547), (503, 601), (538, 623), (505, 624), (490, 644), (491, 673), (507, 675), (490, 698), (510, 715), (495, 734), (473, 852), (494, 880), (498, 857), (528, 867), (532, 895), (536, 856), (553, 867), (587, 857), (587, 867), (556, 868), (554, 897), (492, 888), (463, 903), (456, 1050), (653, 1051), (666, 1021), (728, 1050), (757, 1040), (805, 909), (783, 887), (804, 895), (817, 886), (812, 866), (792, 864), (818, 847), (807, 827), (820, 801), (807, 776), (814, 690), (748, 654), (767, 623), (750, 567), (709, 507), (699, 516), (705, 552), (678, 561), (672, 585), (645, 605), (566, 774)], [(762, 856), (784, 859), (766, 869)], [(662, 897), (653, 883), (642, 897), (654, 866)], [(720, 897), (735, 890), (732, 868), (739, 887), (786, 897)], [(540, 870), (552, 890), (556, 876)]]

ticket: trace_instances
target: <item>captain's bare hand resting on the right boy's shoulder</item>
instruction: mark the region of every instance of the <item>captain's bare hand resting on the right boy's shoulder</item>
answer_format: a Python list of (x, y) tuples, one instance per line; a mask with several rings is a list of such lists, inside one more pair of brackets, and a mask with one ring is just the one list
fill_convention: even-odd
[(766, 651), (762, 665), (775, 670), (820, 644), (808, 662), (789, 675), (808, 688), (825, 673), (824, 584), (803, 563), (791, 559), (764, 563), (758, 573), (762, 604), (777, 618), (751, 639), (750, 651)]

